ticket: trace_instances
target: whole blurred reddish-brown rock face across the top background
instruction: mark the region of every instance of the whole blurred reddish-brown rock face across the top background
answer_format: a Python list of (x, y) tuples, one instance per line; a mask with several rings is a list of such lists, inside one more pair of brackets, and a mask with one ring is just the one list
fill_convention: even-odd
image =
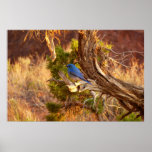
[[(32, 55), (41, 56), (42, 54), (50, 54), (46, 42), (40, 42), (37, 39), (27, 39), (24, 41), (27, 31), (9, 30), (8, 31), (8, 58), (13, 63), (18, 57), (26, 57)], [(138, 51), (144, 52), (144, 31), (143, 30), (100, 30), (99, 37), (103, 41), (113, 45), (116, 52)], [(78, 38), (78, 32), (68, 30), (65, 34), (61, 31), (59, 35), (60, 45), (67, 49), (70, 47), (72, 38)], [(57, 44), (57, 41), (55, 41)], [(134, 54), (140, 63), (144, 58), (139, 53)]]

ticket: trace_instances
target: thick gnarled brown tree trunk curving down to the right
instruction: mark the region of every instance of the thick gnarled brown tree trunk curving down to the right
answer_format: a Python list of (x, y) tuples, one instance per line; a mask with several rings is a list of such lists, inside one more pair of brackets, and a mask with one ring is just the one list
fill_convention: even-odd
[(104, 66), (99, 66), (97, 56), (104, 62), (106, 56), (97, 42), (96, 32), (80, 31), (78, 60), (84, 75), (95, 80), (103, 94), (115, 97), (128, 114), (139, 112), (138, 116), (144, 118), (144, 88), (113, 77)]

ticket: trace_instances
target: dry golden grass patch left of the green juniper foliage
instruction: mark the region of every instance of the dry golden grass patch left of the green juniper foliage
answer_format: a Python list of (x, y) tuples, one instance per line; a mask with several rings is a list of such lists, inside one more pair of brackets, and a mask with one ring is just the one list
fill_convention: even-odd
[(30, 58), (8, 62), (8, 120), (44, 121), (45, 103), (52, 99), (47, 85), (50, 77), (46, 61), (33, 64)]

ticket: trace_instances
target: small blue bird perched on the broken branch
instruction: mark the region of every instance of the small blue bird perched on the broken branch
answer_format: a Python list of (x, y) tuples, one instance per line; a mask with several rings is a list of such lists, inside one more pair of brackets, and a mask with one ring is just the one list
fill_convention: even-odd
[(83, 81), (91, 84), (89, 81), (87, 81), (87, 80), (84, 78), (84, 76), (83, 76), (83, 74), (81, 73), (81, 71), (80, 71), (74, 64), (68, 64), (68, 65), (67, 65), (67, 68), (68, 68), (68, 74), (69, 74), (69, 76), (70, 76), (73, 80), (75, 80), (75, 81), (77, 81), (77, 80), (83, 80)]

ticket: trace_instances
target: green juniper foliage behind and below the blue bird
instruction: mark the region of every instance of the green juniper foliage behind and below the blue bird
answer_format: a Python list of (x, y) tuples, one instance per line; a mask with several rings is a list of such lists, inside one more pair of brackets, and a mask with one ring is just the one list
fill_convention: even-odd
[[(75, 64), (78, 68), (80, 68), (79, 64), (77, 63), (77, 51), (78, 51), (78, 41), (72, 39), (71, 41), (71, 52), (66, 52), (63, 50), (61, 46), (56, 47), (56, 60), (52, 62), (51, 58), (47, 56), (48, 65), (47, 68), (50, 70), (51, 76), (54, 79), (61, 80), (60, 76), (58, 75), (59, 71), (64, 72), (64, 74), (70, 79), (67, 72), (67, 64)], [(91, 97), (89, 91), (84, 91), (81, 93), (78, 92), (70, 92), (68, 87), (64, 83), (58, 83), (56, 81), (50, 81), (49, 83), (50, 92), (56, 97), (61, 103), (64, 102), (84, 102), (84, 100)], [(56, 121), (60, 120), (55, 113), (59, 111), (54, 111), (53, 109), (56, 108), (55, 103), (49, 102), (47, 103), (47, 109), (50, 112), (46, 118), (48, 121)], [(61, 108), (61, 107), (60, 107)]]

